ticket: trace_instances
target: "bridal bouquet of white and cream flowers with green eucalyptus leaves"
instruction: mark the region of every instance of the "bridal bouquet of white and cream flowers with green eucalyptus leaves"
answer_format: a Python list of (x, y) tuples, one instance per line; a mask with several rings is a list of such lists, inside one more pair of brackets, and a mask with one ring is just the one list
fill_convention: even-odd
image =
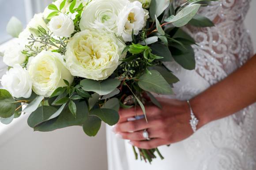
[[(213, 26), (197, 15), (206, 1), (56, 0), (25, 30), (11, 18), (16, 40), (3, 56), (0, 121), (26, 113), (35, 131), (82, 126), (89, 136), (102, 121), (115, 125), (120, 107), (141, 107), (147, 121), (143, 104), (161, 108), (151, 93), (171, 95), (179, 81), (165, 62), (195, 68), (196, 43), (180, 27)], [(133, 149), (136, 159), (163, 158), (157, 148)]]

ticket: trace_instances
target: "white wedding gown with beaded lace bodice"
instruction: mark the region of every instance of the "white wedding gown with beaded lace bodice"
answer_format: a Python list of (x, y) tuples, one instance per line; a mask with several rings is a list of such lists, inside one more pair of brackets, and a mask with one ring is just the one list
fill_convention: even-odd
[[(190, 99), (253, 55), (244, 26), (249, 4), (250, 0), (213, 2), (200, 13), (213, 20), (215, 27), (184, 28), (200, 45), (194, 46), (196, 70), (168, 63), (181, 81), (174, 85), (177, 96), (167, 97)], [(160, 147), (165, 159), (154, 160), (152, 165), (135, 160), (132, 146), (117, 139), (109, 127), (107, 142), (109, 170), (256, 170), (256, 106), (211, 122), (182, 142)]]

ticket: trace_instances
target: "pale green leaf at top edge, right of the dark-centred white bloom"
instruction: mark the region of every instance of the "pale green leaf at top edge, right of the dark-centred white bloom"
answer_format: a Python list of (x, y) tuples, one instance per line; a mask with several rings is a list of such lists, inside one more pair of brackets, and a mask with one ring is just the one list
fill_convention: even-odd
[(154, 20), (154, 16), (160, 16), (169, 6), (169, 0), (152, 0), (149, 8), (150, 17)]

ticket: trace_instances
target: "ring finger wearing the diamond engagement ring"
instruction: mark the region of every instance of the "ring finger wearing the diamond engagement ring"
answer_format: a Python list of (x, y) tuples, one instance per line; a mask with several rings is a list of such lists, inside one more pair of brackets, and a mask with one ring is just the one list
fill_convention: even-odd
[[(136, 141), (140, 141), (140, 140), (146, 140), (143, 137), (143, 131), (137, 131), (137, 132), (133, 132), (133, 133), (118, 133), (120, 135), (120, 137), (122, 139), (128, 139), (128, 140), (136, 140)], [(159, 133), (157, 130), (155, 129), (147, 129), (147, 132), (149, 134), (149, 138), (157, 138), (159, 137)]]

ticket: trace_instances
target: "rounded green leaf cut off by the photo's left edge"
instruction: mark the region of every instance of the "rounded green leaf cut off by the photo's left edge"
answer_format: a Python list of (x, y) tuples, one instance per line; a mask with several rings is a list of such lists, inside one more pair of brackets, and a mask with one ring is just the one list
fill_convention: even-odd
[(0, 89), (0, 117), (9, 118), (11, 117), (16, 109), (15, 100), (11, 94), (4, 89)]

